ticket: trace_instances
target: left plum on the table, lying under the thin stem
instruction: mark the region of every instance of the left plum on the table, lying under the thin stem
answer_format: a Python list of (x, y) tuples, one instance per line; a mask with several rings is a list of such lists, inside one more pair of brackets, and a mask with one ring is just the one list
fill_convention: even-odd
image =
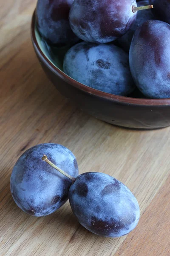
[(74, 154), (62, 145), (40, 144), (25, 151), (11, 174), (11, 194), (24, 212), (33, 216), (51, 214), (68, 200), (71, 180), (42, 161), (43, 154), (73, 177), (78, 175)]

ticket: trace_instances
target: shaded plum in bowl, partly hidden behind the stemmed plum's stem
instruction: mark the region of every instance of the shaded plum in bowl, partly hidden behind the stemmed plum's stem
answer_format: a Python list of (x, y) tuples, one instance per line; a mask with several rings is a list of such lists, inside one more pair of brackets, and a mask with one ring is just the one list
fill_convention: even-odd
[[(138, 6), (148, 5), (148, 0), (142, 0), (138, 3)], [(146, 20), (154, 20), (154, 15), (151, 9), (146, 9), (143, 12), (137, 12), (136, 21), (133, 23), (133, 26), (127, 31), (125, 35), (117, 39), (117, 43), (122, 49), (126, 52), (129, 52), (130, 44), (133, 38), (135, 30)]]

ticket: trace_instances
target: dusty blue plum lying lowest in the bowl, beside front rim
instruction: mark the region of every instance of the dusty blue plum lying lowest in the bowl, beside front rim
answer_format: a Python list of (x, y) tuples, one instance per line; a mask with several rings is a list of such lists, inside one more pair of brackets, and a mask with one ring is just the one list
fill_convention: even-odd
[(125, 96), (135, 88), (128, 55), (113, 44), (76, 44), (66, 53), (63, 69), (73, 79), (106, 93)]

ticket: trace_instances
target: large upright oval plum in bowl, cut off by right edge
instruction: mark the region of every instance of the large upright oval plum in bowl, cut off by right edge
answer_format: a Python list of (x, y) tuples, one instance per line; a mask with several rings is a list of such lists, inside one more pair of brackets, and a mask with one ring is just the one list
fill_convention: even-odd
[(136, 86), (149, 98), (170, 98), (170, 25), (147, 20), (133, 36), (130, 70)]

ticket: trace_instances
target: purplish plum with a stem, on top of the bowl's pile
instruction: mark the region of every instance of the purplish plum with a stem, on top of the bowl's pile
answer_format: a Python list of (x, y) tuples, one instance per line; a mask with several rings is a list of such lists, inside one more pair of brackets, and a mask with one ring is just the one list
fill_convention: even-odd
[(69, 13), (73, 32), (82, 40), (108, 43), (133, 25), (136, 0), (74, 0)]

